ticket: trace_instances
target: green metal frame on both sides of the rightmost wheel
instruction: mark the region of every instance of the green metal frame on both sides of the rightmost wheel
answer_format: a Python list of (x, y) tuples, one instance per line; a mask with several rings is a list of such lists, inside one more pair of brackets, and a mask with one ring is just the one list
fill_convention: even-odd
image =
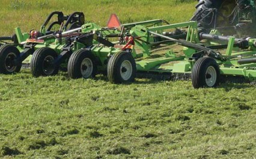
[[(135, 45), (142, 50), (143, 59), (136, 61), (136, 66), (138, 71), (146, 71), (146, 72), (169, 72), (169, 73), (178, 73), (178, 74), (191, 74), (192, 68), (194, 66), (195, 60), (190, 60), (189, 57), (192, 57), (196, 50), (184, 47), (182, 56), (172, 56), (172, 57), (160, 57), (151, 59), (151, 51), (148, 45), (150, 42), (150, 33), (149, 31), (160, 31), (167, 29), (173, 29), (175, 27), (187, 27), (187, 38), (186, 41), (194, 42), (195, 44), (200, 43), (198, 39), (197, 32), (197, 22), (186, 22), (186, 23), (178, 23), (174, 25), (165, 25), (158, 27), (143, 27), (143, 26), (135, 26), (131, 30), (131, 34), (135, 37), (139, 37), (139, 40), (135, 40)], [(218, 30), (213, 30), (212, 33), (218, 33)], [(237, 75), (248, 78), (249, 80), (255, 80), (256, 78), (256, 63), (249, 63), (240, 65), (237, 63), (238, 56), (253, 57), (256, 54), (255, 42), (256, 39), (249, 40), (249, 48), (246, 50), (237, 50), (234, 48), (234, 37), (230, 36), (228, 41), (228, 47), (226, 49), (226, 53), (222, 56), (227, 57), (226, 62), (221, 62), (216, 60), (219, 64), (221, 74), (222, 75)], [(217, 44), (218, 41), (214, 41), (212, 44)], [(220, 44), (226, 44), (227, 42), (220, 42)], [(172, 52), (172, 50), (169, 50)], [(166, 52), (166, 56), (168, 56), (168, 51)], [(138, 56), (139, 53), (138, 53)], [(173, 63), (171, 63), (173, 62)]]

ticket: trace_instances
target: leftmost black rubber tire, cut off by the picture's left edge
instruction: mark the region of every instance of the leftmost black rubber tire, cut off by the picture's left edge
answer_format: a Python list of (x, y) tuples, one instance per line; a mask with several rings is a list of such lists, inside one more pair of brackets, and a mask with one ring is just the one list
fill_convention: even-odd
[(19, 56), (20, 51), (14, 45), (2, 45), (0, 48), (0, 73), (13, 74), (14, 72), (20, 72), (22, 62), (13, 63), (13, 60)]

